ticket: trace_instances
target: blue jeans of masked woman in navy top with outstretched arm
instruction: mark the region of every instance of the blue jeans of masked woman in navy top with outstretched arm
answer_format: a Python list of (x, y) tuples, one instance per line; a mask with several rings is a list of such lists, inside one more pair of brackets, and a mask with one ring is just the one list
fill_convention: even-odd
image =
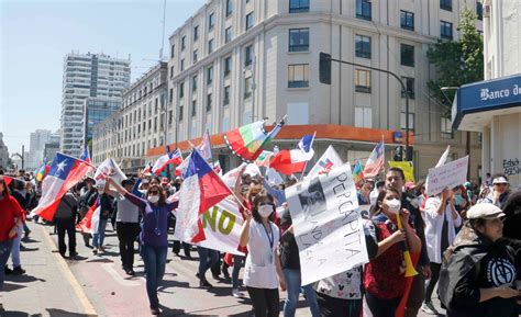
[(163, 275), (165, 275), (167, 252), (168, 247), (141, 246), (141, 254), (145, 263), (146, 272), (146, 294), (148, 295), (151, 308), (157, 308), (159, 306), (157, 287), (163, 281)]

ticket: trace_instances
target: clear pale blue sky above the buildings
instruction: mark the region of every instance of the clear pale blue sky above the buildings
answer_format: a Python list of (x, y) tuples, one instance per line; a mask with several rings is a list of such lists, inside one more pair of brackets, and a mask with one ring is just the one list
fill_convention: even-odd
[[(167, 0), (168, 37), (206, 0)], [(128, 58), (132, 81), (159, 57), (163, 0), (0, 0), (0, 132), (10, 154), (29, 151), (30, 133), (59, 128), (67, 53)]]

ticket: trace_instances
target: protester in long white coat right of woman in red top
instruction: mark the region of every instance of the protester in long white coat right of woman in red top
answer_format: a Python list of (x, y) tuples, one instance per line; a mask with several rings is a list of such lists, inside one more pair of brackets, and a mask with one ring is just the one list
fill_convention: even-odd
[(425, 241), (432, 276), (425, 285), (425, 299), (421, 309), (428, 314), (437, 314), (431, 302), (432, 292), (440, 278), (443, 252), (452, 245), (456, 228), (462, 225), (454, 201), (454, 191), (445, 189), (425, 202)]

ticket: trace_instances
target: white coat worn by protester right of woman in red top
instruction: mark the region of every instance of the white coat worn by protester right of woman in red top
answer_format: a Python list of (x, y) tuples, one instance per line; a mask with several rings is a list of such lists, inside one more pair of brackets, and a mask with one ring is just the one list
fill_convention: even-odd
[[(452, 207), (447, 204), (442, 215), (437, 214), (437, 207), (442, 203), (440, 197), (429, 197), (425, 202), (425, 242), (429, 259), (433, 263), (442, 263), (441, 244), (444, 217), (448, 222), (448, 245), (454, 242), (456, 237), (456, 227), (462, 225), (459, 214), (454, 219), (452, 216)], [(444, 251), (444, 250), (443, 250)]]

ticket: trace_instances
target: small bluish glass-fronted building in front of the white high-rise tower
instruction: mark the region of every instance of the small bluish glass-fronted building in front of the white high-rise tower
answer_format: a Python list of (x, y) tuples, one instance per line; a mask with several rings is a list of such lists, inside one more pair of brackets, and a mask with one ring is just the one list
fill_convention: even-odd
[[(84, 103), (84, 145), (92, 139), (92, 127), (121, 106), (121, 98), (89, 97)], [(89, 149), (92, 152), (92, 148)]]

